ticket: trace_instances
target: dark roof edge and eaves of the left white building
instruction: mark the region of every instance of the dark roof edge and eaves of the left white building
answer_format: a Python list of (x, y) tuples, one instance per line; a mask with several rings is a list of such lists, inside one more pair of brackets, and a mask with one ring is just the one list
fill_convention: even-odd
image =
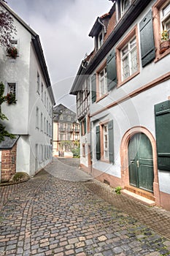
[(23, 21), (7, 4), (5, 4), (3, 1), (1, 1), (1, 5), (16, 20), (18, 20), (18, 22), (31, 34), (32, 42), (33, 42), (33, 45), (34, 45), (34, 48), (35, 48), (35, 51), (36, 51), (36, 55), (37, 55), (37, 57), (39, 59), (39, 64), (40, 64), (40, 67), (42, 69), (42, 74), (43, 74), (43, 76), (45, 78), (45, 82), (47, 84), (47, 88), (49, 89), (49, 93), (50, 93), (50, 97), (52, 99), (53, 105), (55, 105), (55, 97), (54, 97), (54, 94), (53, 94), (53, 89), (51, 87), (50, 77), (49, 77), (49, 74), (48, 74), (47, 65), (46, 65), (46, 62), (45, 62), (45, 56), (44, 56), (44, 53), (43, 53), (43, 50), (42, 50), (42, 45), (41, 45), (41, 42), (40, 42), (40, 39), (39, 39), (39, 35), (36, 34), (36, 32), (33, 29), (31, 29), (31, 27), (28, 26), (26, 24), (26, 22)]

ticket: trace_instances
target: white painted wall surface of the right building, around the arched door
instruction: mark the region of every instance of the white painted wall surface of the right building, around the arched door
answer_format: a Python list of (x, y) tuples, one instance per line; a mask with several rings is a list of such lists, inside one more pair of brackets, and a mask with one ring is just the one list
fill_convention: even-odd
[[(134, 24), (128, 31), (123, 35), (123, 37), (117, 42), (117, 45), (122, 41), (126, 34), (131, 31), (131, 29), (138, 26), (139, 33), (139, 22), (142, 20), (144, 15), (150, 10), (151, 4), (142, 12), (137, 18)], [(139, 56), (140, 53), (140, 37), (139, 37)], [(106, 56), (107, 58), (107, 56)], [(161, 77), (161, 75), (166, 74), (170, 71), (170, 55), (164, 57), (158, 62), (152, 61), (152, 63), (147, 64), (146, 67), (142, 68), (141, 58), (140, 59), (140, 73), (136, 75), (135, 78), (129, 80), (119, 89), (115, 88), (109, 92), (109, 96), (101, 99), (98, 103), (93, 103), (90, 105), (90, 114), (96, 113), (96, 111), (105, 108), (107, 105), (112, 104), (112, 102), (117, 102), (122, 97), (128, 97), (132, 91), (139, 89), (141, 86), (145, 86), (147, 83), (152, 82), (156, 78)], [(98, 65), (100, 67), (101, 64)], [(98, 69), (96, 68), (96, 70)], [(95, 73), (95, 72), (94, 72)], [(96, 116), (91, 118), (93, 121), (92, 129), (92, 147), (96, 148), (96, 136), (95, 127), (99, 124), (99, 121), (114, 120), (114, 149), (115, 149), (115, 164), (109, 164), (96, 160), (96, 150), (93, 151), (93, 167), (101, 170), (101, 172), (109, 173), (112, 176), (121, 177), (120, 173), (120, 143), (125, 132), (131, 127), (142, 126), (147, 128), (155, 138), (155, 113), (154, 105), (164, 102), (170, 96), (170, 82), (166, 80), (165, 82), (152, 87), (151, 89), (138, 94), (136, 97), (129, 98), (125, 102), (116, 105), (113, 108), (109, 108)], [(99, 121), (96, 121), (96, 120)], [(82, 159), (81, 159), (82, 161)], [(170, 174), (167, 171), (158, 170), (158, 178), (160, 190), (170, 194)]]

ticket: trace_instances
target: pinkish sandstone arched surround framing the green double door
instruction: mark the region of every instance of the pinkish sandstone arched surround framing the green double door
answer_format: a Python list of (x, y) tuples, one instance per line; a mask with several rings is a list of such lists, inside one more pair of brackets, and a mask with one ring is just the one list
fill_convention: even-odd
[[(156, 151), (156, 142), (155, 138), (152, 136), (152, 133), (146, 129), (145, 127), (131, 127), (127, 132), (123, 135), (121, 145), (120, 145), (120, 161), (121, 161), (121, 186), (127, 187), (131, 186), (130, 184), (130, 173), (129, 173), (129, 153), (128, 146), (131, 139), (134, 135), (142, 133), (147, 137), (147, 140), (150, 141), (150, 145), (152, 147), (152, 171), (153, 171), (153, 182), (152, 182), (152, 192), (150, 194), (155, 197), (155, 202), (158, 206), (160, 206), (160, 192), (159, 192), (159, 184), (158, 184), (158, 164), (157, 164), (157, 151)], [(144, 136), (144, 138), (146, 138)], [(136, 159), (137, 161), (138, 159)], [(131, 160), (130, 160), (131, 161)], [(136, 162), (138, 165), (138, 162)], [(134, 189), (138, 189), (137, 187), (133, 187)], [(141, 190), (141, 189), (139, 189)], [(142, 189), (144, 191), (144, 189)], [(137, 192), (137, 191), (136, 191)]]

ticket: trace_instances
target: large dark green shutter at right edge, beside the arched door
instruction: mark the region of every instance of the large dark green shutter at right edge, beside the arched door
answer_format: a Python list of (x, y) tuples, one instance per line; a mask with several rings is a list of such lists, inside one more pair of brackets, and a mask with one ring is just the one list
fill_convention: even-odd
[(170, 100), (155, 105), (158, 169), (170, 170)]

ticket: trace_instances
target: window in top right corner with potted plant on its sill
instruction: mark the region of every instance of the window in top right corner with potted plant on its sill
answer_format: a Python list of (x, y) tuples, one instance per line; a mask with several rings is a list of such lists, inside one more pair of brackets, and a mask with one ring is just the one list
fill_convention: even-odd
[(166, 30), (170, 38), (170, 2), (161, 9), (161, 26), (162, 30)]

